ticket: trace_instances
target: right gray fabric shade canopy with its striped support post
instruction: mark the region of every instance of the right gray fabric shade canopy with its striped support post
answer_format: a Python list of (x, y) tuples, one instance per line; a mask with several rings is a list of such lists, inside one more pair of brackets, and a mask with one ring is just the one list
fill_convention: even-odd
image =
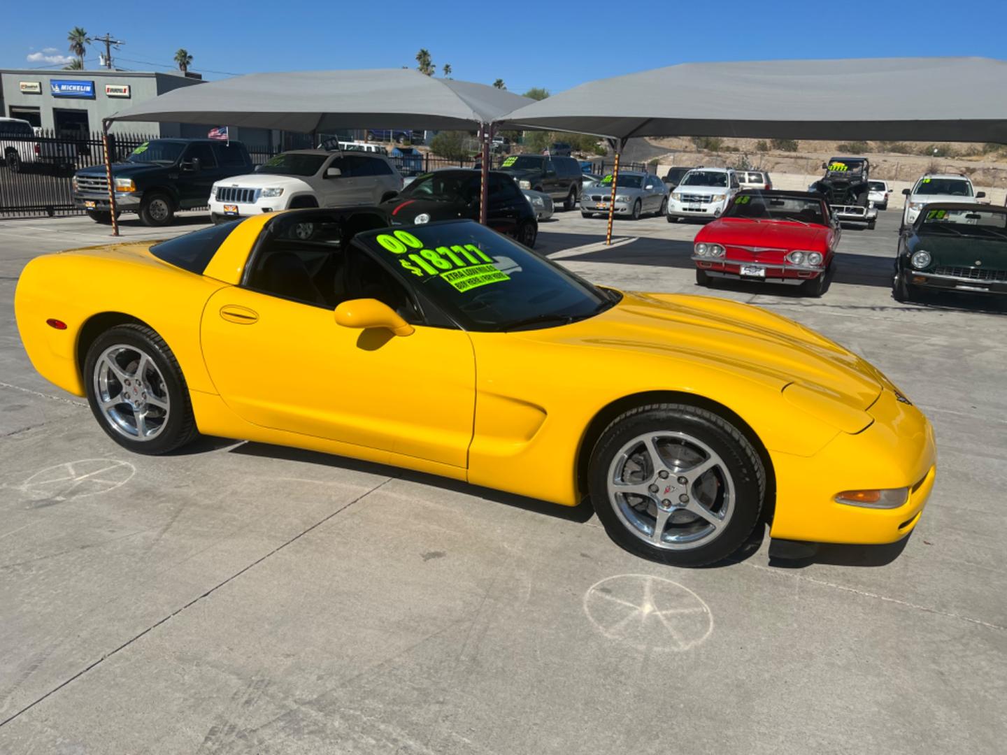
[[(982, 57), (683, 63), (582, 84), (503, 128), (644, 136), (1007, 144), (1007, 62)], [(612, 181), (614, 201), (615, 180)], [(607, 237), (611, 241), (609, 203)]]

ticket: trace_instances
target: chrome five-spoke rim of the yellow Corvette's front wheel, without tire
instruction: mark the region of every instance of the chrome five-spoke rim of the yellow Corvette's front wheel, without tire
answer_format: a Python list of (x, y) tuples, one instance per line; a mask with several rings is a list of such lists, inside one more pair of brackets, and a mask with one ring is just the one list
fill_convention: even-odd
[(686, 433), (626, 443), (608, 469), (608, 499), (622, 524), (654, 548), (684, 551), (716, 540), (734, 512), (724, 460)]

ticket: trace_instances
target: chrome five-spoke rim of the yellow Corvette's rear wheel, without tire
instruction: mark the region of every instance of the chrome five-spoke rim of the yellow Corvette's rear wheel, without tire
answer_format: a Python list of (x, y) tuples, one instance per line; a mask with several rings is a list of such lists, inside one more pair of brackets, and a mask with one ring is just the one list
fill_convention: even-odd
[(149, 441), (168, 422), (168, 389), (149, 354), (136, 346), (109, 346), (95, 362), (95, 397), (109, 427), (136, 441)]

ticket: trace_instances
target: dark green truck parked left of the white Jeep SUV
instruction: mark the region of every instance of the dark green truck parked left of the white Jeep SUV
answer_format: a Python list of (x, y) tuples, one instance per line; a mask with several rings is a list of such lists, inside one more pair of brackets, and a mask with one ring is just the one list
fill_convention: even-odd
[[(112, 166), (116, 208), (138, 212), (145, 225), (168, 225), (179, 209), (206, 206), (214, 181), (254, 170), (241, 142), (151, 139)], [(112, 222), (104, 165), (74, 174), (74, 204), (96, 222)]]

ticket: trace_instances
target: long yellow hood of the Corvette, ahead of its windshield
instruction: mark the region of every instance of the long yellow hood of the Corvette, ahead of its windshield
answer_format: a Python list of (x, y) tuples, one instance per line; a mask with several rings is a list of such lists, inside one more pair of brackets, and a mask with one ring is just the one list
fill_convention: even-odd
[[(742, 373), (780, 390), (799, 383), (857, 410), (871, 406), (885, 382), (864, 359), (793, 320), (705, 296), (626, 293), (597, 317), (514, 335), (557, 345), (664, 354), (683, 364), (699, 362)], [(626, 364), (631, 368), (630, 361)]]

